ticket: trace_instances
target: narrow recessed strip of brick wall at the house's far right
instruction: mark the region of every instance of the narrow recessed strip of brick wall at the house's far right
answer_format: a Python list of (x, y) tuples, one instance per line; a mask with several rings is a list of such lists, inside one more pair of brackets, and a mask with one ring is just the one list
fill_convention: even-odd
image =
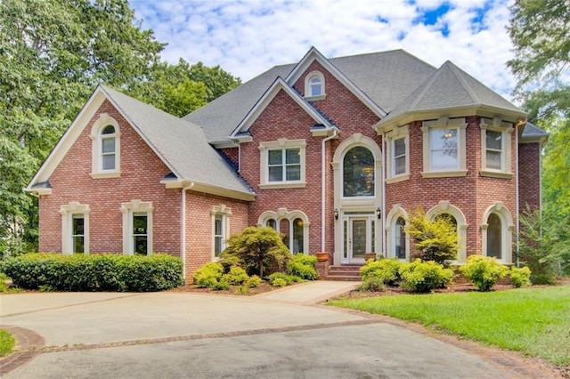
[(520, 212), (541, 207), (541, 146), (539, 142), (518, 145), (518, 190)]

